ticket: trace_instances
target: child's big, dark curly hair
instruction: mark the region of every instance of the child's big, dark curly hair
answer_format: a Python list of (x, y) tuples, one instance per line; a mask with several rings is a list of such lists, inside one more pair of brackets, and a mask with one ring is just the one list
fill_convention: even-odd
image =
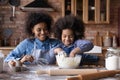
[(54, 24), (55, 37), (61, 40), (62, 30), (71, 29), (74, 33), (74, 40), (84, 38), (84, 23), (77, 16), (67, 15), (59, 18)]

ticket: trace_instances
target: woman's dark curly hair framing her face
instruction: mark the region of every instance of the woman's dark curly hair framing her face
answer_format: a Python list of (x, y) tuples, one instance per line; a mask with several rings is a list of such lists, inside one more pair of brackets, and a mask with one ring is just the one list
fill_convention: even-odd
[(49, 14), (45, 12), (29, 13), (26, 21), (26, 32), (28, 33), (29, 36), (34, 36), (34, 34), (32, 33), (32, 29), (36, 24), (41, 22), (47, 24), (48, 31), (51, 30), (53, 19)]

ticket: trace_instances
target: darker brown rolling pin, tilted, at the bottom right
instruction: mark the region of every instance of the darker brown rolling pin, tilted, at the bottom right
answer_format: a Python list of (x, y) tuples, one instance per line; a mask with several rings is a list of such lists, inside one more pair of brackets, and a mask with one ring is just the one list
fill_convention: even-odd
[(116, 74), (120, 74), (120, 70), (106, 70), (89, 74), (80, 74), (76, 77), (69, 77), (66, 80), (96, 80), (105, 77), (112, 77)]

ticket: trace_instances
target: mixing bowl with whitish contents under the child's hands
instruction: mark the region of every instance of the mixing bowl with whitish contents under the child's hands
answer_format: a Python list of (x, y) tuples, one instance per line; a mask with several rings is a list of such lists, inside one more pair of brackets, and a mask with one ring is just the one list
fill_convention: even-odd
[(77, 68), (81, 62), (81, 56), (65, 57), (63, 55), (56, 55), (56, 60), (60, 68)]

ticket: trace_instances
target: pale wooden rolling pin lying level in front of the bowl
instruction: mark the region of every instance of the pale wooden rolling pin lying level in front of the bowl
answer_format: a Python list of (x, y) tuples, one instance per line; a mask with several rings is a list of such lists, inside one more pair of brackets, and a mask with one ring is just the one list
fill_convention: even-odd
[(37, 74), (48, 74), (51, 76), (67, 76), (78, 75), (98, 72), (97, 69), (49, 69), (49, 70), (37, 70)]

